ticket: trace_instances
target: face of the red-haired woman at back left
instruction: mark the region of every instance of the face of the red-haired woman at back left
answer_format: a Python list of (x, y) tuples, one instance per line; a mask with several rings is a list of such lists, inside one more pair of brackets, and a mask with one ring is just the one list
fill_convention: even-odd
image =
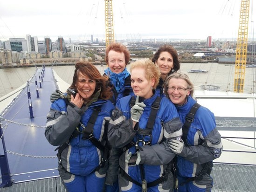
[(110, 50), (108, 66), (113, 73), (119, 74), (125, 70), (125, 54)]

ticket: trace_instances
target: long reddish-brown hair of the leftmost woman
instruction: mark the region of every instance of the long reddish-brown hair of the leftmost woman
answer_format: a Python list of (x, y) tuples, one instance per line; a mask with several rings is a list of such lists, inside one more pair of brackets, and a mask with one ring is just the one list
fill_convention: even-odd
[(111, 88), (107, 86), (109, 79), (107, 75), (102, 76), (98, 69), (90, 62), (77, 62), (75, 67), (76, 69), (73, 76), (73, 82), (70, 86), (71, 89), (76, 89), (78, 74), (81, 72), (83, 75), (87, 75), (90, 79), (94, 79), (96, 81), (96, 88), (93, 94), (101, 89), (99, 99), (107, 100), (111, 98), (112, 91)]

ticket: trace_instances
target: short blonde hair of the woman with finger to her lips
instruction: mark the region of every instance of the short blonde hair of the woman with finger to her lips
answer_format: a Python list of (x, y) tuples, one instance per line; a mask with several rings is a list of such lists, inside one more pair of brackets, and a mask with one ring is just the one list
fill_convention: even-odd
[(155, 65), (150, 59), (140, 59), (136, 62), (131, 63), (130, 72), (132, 72), (135, 68), (145, 69), (145, 77), (148, 81), (155, 79), (155, 84), (152, 86), (153, 89), (156, 89), (159, 78), (160, 78), (160, 70), (157, 65)]

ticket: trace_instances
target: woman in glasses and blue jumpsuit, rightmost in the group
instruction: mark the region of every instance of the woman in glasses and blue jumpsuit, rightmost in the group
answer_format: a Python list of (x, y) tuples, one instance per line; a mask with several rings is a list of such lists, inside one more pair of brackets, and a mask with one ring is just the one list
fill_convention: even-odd
[[(184, 123), (185, 117), (196, 103), (193, 98), (193, 83), (186, 74), (173, 73), (166, 79), (164, 93), (175, 104), (180, 120)], [(210, 192), (213, 186), (213, 179), (210, 176), (212, 161), (220, 157), (223, 149), (214, 114), (203, 106), (199, 107), (188, 130), (187, 143), (182, 140), (171, 140), (168, 144), (178, 155), (178, 191)], [(196, 177), (203, 169), (207, 173), (203, 177)]]

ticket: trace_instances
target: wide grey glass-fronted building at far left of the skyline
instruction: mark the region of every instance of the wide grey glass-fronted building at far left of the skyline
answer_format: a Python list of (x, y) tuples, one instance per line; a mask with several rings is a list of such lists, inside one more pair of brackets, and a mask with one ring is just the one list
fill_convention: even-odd
[(25, 38), (10, 38), (4, 42), (4, 48), (12, 51), (28, 51), (27, 41)]

